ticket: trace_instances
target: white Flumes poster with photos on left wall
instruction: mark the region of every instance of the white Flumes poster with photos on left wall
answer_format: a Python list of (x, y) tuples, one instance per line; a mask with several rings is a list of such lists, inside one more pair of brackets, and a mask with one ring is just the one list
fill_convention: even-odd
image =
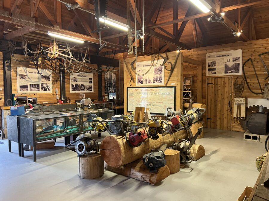
[(17, 67), (18, 93), (51, 93), (51, 70)]

